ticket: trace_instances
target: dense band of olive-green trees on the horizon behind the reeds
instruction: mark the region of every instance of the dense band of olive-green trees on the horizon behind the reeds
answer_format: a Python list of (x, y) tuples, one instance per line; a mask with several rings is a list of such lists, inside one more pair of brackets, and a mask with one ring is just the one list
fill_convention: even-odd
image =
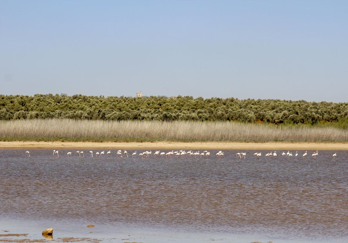
[(317, 124), (348, 121), (348, 103), (192, 96), (0, 95), (0, 119), (201, 120)]

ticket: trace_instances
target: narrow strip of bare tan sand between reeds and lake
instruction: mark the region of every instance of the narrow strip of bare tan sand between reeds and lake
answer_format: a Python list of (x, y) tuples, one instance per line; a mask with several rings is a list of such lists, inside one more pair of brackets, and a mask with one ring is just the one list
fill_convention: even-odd
[(0, 142), (2, 149), (128, 148), (128, 149), (347, 149), (348, 143), (228, 143), (228, 142)]

